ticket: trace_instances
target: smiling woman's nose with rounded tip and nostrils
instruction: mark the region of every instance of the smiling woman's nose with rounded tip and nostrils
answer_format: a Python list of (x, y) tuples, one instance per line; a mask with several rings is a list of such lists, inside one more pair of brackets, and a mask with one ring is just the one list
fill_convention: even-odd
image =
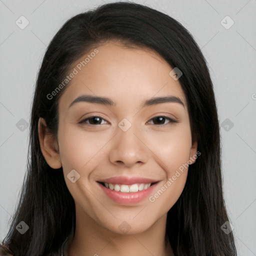
[(113, 137), (109, 160), (115, 165), (131, 167), (136, 163), (147, 162), (150, 149), (146, 146), (141, 135), (134, 130), (133, 125), (123, 131), (117, 128)]

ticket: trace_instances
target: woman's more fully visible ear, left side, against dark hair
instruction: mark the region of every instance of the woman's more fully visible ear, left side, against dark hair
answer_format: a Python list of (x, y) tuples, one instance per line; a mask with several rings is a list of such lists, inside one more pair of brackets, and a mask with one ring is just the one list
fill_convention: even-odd
[(62, 165), (59, 157), (57, 141), (48, 131), (46, 122), (42, 117), (38, 120), (38, 135), (40, 148), (45, 161), (53, 169), (60, 168)]

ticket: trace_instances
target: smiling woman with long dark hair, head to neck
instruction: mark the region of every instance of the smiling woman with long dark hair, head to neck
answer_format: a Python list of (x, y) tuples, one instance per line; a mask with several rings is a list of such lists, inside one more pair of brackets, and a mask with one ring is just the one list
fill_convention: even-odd
[(30, 125), (1, 255), (236, 255), (212, 82), (173, 18), (130, 2), (70, 18)]

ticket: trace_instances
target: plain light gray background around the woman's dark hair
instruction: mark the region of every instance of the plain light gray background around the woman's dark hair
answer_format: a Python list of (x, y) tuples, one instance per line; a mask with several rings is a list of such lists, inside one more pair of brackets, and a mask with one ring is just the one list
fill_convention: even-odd
[[(0, 241), (26, 171), (29, 128), (22, 131), (16, 123), (21, 118), (29, 121), (33, 86), (46, 46), (69, 17), (104, 2), (110, 1), (0, 0)], [(219, 121), (228, 118), (233, 123), (221, 127), (222, 167), (238, 255), (256, 255), (256, 0), (134, 2), (181, 22), (207, 60)], [(15, 24), (21, 15), (29, 21), (24, 29)], [(220, 23), (226, 15), (234, 21), (229, 29)], [(226, 18), (222, 22), (231, 24)]]

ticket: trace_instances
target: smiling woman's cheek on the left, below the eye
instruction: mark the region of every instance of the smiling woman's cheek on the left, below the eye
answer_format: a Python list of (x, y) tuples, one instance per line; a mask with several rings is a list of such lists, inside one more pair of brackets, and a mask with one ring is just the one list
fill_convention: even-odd
[[(94, 197), (86, 187), (90, 174), (102, 160), (102, 155), (106, 154), (104, 145), (109, 140), (108, 136), (100, 132), (86, 132), (74, 125), (65, 124), (59, 125), (58, 140), (67, 188), (76, 202), (84, 204), (86, 212), (92, 212), (91, 202), (94, 201)], [(74, 173), (71, 172), (73, 169), (79, 174), (79, 179), (74, 183), (68, 178), (71, 176), (69, 173)]]

